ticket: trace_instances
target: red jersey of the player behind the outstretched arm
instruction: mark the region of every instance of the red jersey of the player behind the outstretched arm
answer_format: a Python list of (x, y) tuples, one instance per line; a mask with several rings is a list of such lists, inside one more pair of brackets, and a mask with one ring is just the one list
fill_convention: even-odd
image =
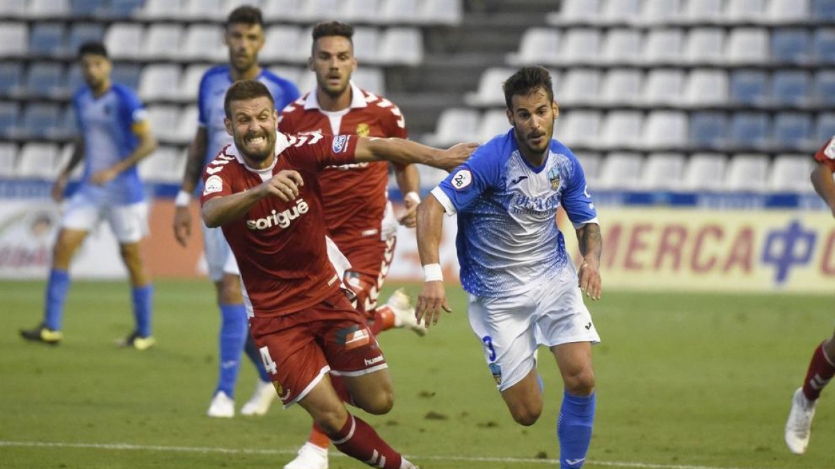
[[(351, 105), (336, 112), (319, 108), (311, 92), (290, 103), (279, 119), (278, 129), (287, 134), (356, 134), (361, 137), (407, 137), (400, 109), (351, 83)], [(325, 223), (334, 240), (376, 235), (380, 239), (388, 202), (387, 162), (331, 166), (319, 177), (325, 204)], [(376, 230), (376, 231), (373, 231)]]

